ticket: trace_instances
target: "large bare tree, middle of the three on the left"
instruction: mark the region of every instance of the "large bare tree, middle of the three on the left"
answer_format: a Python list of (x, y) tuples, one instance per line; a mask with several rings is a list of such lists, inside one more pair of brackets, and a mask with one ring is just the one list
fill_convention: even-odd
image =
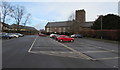
[(24, 15), (25, 15), (25, 7), (24, 6), (16, 5), (16, 6), (12, 7), (11, 17), (14, 18), (17, 23), (17, 30), (19, 30), (19, 25), (20, 25), (21, 20)]

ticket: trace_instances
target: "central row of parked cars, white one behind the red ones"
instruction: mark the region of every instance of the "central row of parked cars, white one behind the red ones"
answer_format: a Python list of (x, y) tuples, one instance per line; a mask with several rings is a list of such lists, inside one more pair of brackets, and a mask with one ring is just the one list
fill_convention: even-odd
[(69, 41), (69, 42), (74, 42), (74, 38), (71, 38), (70, 36), (67, 35), (58, 35), (58, 34), (50, 34), (50, 38), (53, 38), (59, 42), (64, 42), (64, 41)]

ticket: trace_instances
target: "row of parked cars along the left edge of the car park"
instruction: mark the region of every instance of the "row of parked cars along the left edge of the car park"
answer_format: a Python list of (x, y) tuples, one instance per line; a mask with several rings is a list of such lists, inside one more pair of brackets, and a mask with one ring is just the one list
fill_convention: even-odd
[(18, 38), (23, 36), (24, 35), (20, 33), (0, 33), (1, 39), (11, 39), (11, 38)]

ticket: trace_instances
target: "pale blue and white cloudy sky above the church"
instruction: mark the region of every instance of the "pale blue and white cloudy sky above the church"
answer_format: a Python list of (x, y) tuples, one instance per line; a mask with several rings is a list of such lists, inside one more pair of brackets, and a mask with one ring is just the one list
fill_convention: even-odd
[(25, 6), (32, 14), (32, 23), (27, 24), (36, 29), (44, 29), (47, 22), (67, 21), (75, 10), (86, 11), (86, 21), (94, 21), (97, 15), (118, 14), (118, 2), (12, 2)]

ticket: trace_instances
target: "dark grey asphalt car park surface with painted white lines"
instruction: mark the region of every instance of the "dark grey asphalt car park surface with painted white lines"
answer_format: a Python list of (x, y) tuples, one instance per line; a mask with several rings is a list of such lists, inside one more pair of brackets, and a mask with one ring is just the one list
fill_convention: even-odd
[(118, 44), (24, 36), (2, 41), (2, 68), (118, 68)]

